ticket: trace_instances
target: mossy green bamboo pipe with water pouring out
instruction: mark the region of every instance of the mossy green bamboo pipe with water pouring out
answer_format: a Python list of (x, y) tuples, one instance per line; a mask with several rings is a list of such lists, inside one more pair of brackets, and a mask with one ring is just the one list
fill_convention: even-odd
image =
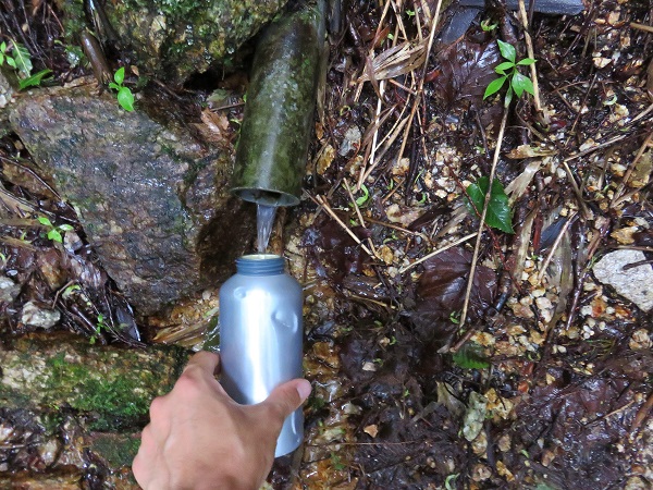
[(231, 192), (267, 206), (299, 203), (312, 133), (324, 1), (275, 20), (257, 45)]

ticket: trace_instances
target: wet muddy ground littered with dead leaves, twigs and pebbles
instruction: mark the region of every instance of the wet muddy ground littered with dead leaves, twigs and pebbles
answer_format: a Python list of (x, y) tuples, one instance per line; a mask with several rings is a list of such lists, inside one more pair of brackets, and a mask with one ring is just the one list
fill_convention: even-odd
[[(305, 444), (278, 461), (272, 488), (651, 488), (653, 320), (595, 272), (630, 250), (639, 255), (612, 274), (653, 277), (651, 13), (645, 1), (587, 2), (575, 16), (500, 2), (445, 45), (452, 8), (343, 7), (304, 198), (280, 213), (271, 244), (305, 287), (315, 387)], [(515, 61), (530, 50), (537, 60), (520, 69), (535, 95), (507, 108), (505, 86), (483, 99), (506, 61), (497, 39)], [(90, 73), (41, 58), (58, 81)], [(162, 90), (233, 136), (243, 81), (245, 68)], [(202, 118), (215, 88), (235, 102)], [(16, 155), (28, 159), (7, 135), (3, 195), (74, 224)], [(481, 228), (483, 199), (475, 209), (468, 197), (490, 175), (501, 185)], [(58, 264), (57, 247), (36, 226), (2, 229), (2, 269), (22, 287), (2, 335), (16, 335), (29, 330), (24, 303), (59, 294), (32, 273)], [(636, 289), (650, 291), (643, 281)], [(70, 304), (59, 308), (57, 328), (94, 335)], [(140, 326), (144, 339), (197, 346), (208, 328), (170, 323)]]

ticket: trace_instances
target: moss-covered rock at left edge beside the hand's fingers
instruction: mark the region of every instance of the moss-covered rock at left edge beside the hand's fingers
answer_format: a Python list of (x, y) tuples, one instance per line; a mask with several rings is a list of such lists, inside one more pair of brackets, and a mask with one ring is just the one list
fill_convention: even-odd
[(72, 411), (96, 430), (138, 427), (186, 360), (180, 347), (128, 350), (63, 332), (29, 334), (0, 345), (0, 406), (50, 416)]

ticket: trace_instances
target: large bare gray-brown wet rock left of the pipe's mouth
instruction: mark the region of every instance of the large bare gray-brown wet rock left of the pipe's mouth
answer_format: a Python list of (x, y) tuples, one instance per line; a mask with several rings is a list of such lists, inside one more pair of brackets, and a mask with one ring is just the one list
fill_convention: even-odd
[(160, 311), (232, 273), (254, 216), (227, 192), (229, 150), (180, 125), (125, 112), (94, 84), (39, 90), (10, 121), (50, 173), (137, 315)]

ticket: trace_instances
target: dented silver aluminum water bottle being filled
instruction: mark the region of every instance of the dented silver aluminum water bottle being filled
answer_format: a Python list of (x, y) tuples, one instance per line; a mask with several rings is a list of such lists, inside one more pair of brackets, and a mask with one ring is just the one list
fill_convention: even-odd
[[(279, 384), (301, 378), (301, 286), (278, 255), (246, 255), (220, 289), (222, 385), (238, 403), (262, 402)], [(304, 439), (298, 408), (283, 424), (274, 457)]]

